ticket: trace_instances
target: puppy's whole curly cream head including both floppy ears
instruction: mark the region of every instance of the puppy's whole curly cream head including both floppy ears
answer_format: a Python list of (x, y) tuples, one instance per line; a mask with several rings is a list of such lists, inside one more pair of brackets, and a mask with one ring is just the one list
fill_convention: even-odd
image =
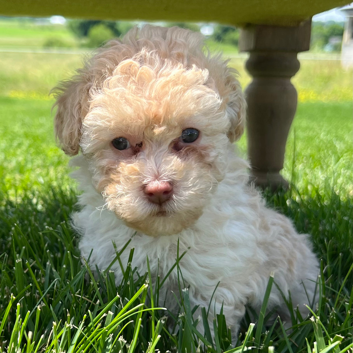
[(202, 46), (185, 29), (135, 28), (56, 89), (61, 148), (81, 150), (107, 207), (152, 236), (198, 219), (244, 129), (234, 72)]

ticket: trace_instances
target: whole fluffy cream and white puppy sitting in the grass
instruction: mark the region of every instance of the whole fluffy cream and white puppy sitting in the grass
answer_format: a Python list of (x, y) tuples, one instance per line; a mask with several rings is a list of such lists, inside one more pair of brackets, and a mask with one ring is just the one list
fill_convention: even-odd
[[(163, 277), (186, 251), (179, 265), (192, 306), (208, 307), (219, 283), (209, 319), (223, 305), (235, 334), (245, 305), (261, 306), (272, 272), (306, 315), (318, 263), (307, 235), (249, 185), (249, 166), (232, 144), (246, 112), (236, 72), (202, 48), (200, 34), (177, 27), (146, 25), (110, 41), (56, 88), (55, 131), (67, 154), (81, 151), (82, 210), (73, 224), (92, 268), (106, 269), (113, 243), (130, 240), (122, 263), (134, 248), (132, 267), (145, 273), (148, 256), (152, 275), (159, 268)], [(118, 262), (112, 270), (120, 283)], [(288, 319), (273, 287), (268, 307)], [(172, 291), (179, 293), (176, 268), (160, 292), (160, 305), (175, 310)]]

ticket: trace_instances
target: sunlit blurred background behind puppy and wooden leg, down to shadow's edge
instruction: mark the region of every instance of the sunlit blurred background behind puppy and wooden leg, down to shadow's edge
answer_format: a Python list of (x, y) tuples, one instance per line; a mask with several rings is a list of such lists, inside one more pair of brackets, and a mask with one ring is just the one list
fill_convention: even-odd
[[(329, 180), (342, 197), (352, 196), (352, 17), (331, 10), (313, 17), (311, 49), (299, 53), (300, 70), (292, 78), (298, 109), (287, 141), (283, 176), (299, 189)], [(351, 21), (351, 22), (349, 22)], [(143, 22), (0, 17), (0, 189), (11, 198), (42, 185), (73, 185), (68, 157), (54, 140), (54, 103), (50, 90), (70, 78), (92, 51)], [(212, 51), (221, 50), (240, 74), (251, 77), (239, 53), (239, 29), (215, 23), (157, 25), (202, 32)], [(344, 32), (349, 32), (348, 42)], [(342, 41), (343, 38), (343, 41)], [(349, 47), (350, 46), (350, 47)], [(348, 48), (348, 49), (347, 49)], [(349, 49), (350, 48), (350, 49)], [(342, 133), (344, 131), (344, 133)], [(246, 136), (239, 143), (246, 155)], [(315, 172), (314, 172), (315, 169)], [(20, 197), (18, 197), (20, 200)]]

